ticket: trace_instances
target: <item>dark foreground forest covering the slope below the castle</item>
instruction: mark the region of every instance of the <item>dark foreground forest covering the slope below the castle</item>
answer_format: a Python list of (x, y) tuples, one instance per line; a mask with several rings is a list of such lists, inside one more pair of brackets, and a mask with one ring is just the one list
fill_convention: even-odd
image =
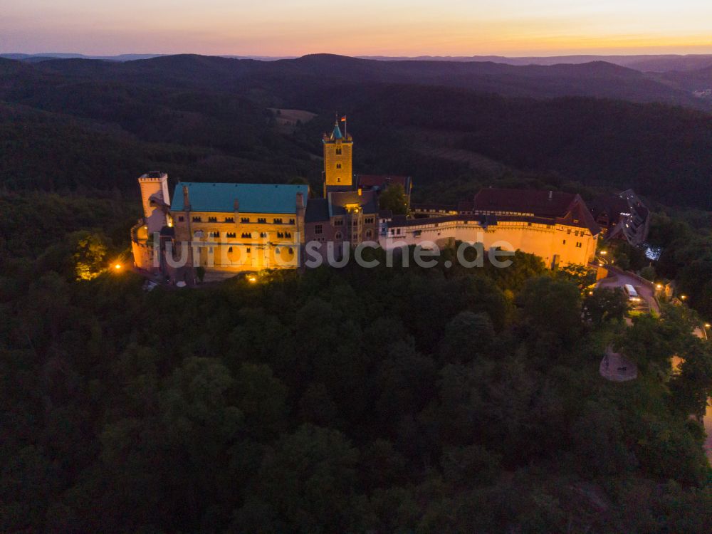
[[(120, 204), (54, 200), (26, 236), (46, 248), (8, 243), (2, 265), (4, 532), (712, 527), (689, 417), (712, 352), (683, 308), (625, 328), (622, 295), (522, 253), (476, 272), (446, 251), (434, 269), (198, 290), (76, 282), (87, 233), (53, 239), (52, 223), (95, 216), (78, 226), (114, 258), (100, 227)], [(597, 375), (609, 344), (639, 379)]]

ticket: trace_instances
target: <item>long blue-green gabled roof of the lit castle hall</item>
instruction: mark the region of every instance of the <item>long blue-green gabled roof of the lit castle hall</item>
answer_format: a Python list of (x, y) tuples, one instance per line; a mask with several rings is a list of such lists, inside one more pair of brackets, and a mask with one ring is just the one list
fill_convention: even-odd
[(183, 186), (188, 187), (192, 211), (234, 211), (235, 199), (241, 213), (295, 214), (297, 193), (307, 204), (308, 185), (211, 184), (179, 182), (173, 192), (171, 211), (183, 211)]

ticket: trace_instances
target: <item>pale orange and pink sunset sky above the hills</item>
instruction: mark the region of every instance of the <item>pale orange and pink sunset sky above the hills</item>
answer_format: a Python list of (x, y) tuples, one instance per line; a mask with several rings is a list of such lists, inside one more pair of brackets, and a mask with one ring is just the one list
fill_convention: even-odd
[(712, 53), (712, 1), (0, 0), (0, 52)]

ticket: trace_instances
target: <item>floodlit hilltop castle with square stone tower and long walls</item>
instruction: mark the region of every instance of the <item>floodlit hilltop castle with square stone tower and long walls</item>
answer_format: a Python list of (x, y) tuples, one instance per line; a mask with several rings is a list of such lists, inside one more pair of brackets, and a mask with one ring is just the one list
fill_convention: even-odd
[(482, 189), (459, 206), (393, 214), (379, 209), (379, 197), (398, 187), (409, 206), (410, 177), (354, 174), (353, 139), (339, 122), (322, 144), (320, 198), (301, 184), (179, 182), (171, 200), (167, 174), (144, 174), (144, 216), (131, 231), (135, 266), (191, 283), (198, 267), (209, 279), (298, 268), (306, 244), (326, 257), (328, 244), (340, 254), (359, 244), (433, 248), (464, 241), (533, 253), (550, 268), (585, 266), (595, 256), (601, 229), (577, 194)]

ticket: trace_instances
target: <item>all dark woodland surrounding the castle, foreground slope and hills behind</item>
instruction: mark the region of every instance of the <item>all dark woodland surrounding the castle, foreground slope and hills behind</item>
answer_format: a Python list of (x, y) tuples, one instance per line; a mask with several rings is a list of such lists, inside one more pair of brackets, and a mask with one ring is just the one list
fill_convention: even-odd
[[(1, 532), (712, 531), (706, 112), (161, 60), (0, 61)], [(274, 107), (318, 116), (285, 134)], [(108, 269), (140, 174), (318, 191), (335, 110), (357, 172), (411, 174), (414, 202), (634, 187), (661, 258), (612, 253), (689, 307), (628, 327), (621, 293), (523, 253), (194, 290)], [(607, 347), (639, 377), (602, 379)]]

